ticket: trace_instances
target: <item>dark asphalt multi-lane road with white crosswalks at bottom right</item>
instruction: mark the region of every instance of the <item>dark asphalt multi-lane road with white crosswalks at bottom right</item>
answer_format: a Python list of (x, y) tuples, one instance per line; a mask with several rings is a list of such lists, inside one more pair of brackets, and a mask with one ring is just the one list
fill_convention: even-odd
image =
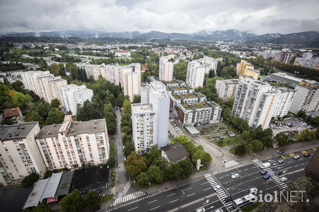
[[(225, 202), (224, 199), (232, 195), (234, 199), (249, 194), (249, 188), (256, 187), (258, 192), (263, 194), (273, 194), (274, 191), (280, 191), (287, 187), (303, 175), (303, 169), (306, 167), (309, 159), (312, 157), (316, 148), (307, 149), (300, 152), (293, 152), (279, 155), (273, 159), (260, 161), (253, 158), (252, 164), (234, 168), (227, 172), (203, 173), (204, 178), (158, 194), (138, 193), (132, 198), (123, 198), (120, 203), (115, 204), (105, 211), (195, 211), (197, 208), (205, 208), (206, 211), (215, 211), (221, 208), (223, 211), (233, 211), (232, 202)], [(310, 157), (303, 156), (305, 152), (310, 152)], [(294, 159), (294, 155), (300, 155), (300, 159)], [(283, 159), (284, 163), (277, 161)], [(261, 163), (271, 163), (267, 168), (272, 177), (268, 180), (263, 179), (258, 167)], [(275, 176), (273, 173), (282, 171), (282, 175)], [(238, 173), (239, 177), (232, 179), (231, 175)], [(282, 182), (280, 177), (285, 176), (287, 181)], [(215, 192), (213, 187), (221, 186), (221, 190)], [(182, 207), (181, 207), (182, 205)]]

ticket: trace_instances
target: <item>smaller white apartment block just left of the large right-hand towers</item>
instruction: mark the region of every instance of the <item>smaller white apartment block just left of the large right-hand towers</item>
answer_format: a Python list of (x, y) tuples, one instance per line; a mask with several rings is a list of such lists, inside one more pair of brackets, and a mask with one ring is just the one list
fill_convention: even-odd
[(216, 80), (216, 93), (224, 101), (234, 98), (237, 93), (240, 79)]

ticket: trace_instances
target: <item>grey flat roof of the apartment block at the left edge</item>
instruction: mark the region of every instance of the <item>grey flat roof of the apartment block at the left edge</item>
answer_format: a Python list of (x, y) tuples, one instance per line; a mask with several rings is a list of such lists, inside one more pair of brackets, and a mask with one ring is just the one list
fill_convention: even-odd
[(26, 138), (37, 123), (38, 122), (26, 122), (13, 125), (0, 125), (0, 139), (6, 141)]

